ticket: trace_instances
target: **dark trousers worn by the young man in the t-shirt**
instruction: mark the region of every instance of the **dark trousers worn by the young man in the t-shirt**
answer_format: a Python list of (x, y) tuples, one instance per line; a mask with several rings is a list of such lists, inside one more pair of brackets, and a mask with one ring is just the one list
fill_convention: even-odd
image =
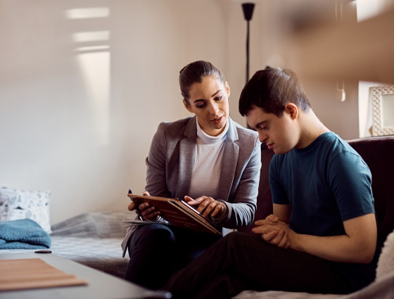
[(350, 293), (364, 286), (355, 286), (339, 264), (234, 232), (174, 274), (163, 289), (173, 299), (227, 299), (244, 290)]

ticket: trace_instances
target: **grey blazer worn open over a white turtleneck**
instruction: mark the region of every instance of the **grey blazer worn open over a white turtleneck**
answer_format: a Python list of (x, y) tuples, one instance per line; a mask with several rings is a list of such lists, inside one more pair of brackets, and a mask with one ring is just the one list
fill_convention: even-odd
[[(189, 195), (196, 155), (196, 116), (175, 122), (162, 122), (153, 136), (146, 158), (146, 191), (154, 196), (184, 198)], [(219, 225), (237, 229), (252, 224), (257, 205), (260, 179), (260, 141), (257, 132), (229, 118), (224, 145), (218, 198), (229, 210)], [(201, 195), (203, 193), (201, 189)], [(122, 242), (123, 254), (135, 228)]]

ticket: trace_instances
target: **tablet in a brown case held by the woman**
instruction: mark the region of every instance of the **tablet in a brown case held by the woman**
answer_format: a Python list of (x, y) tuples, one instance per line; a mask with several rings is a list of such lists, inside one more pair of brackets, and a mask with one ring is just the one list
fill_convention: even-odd
[(160, 216), (167, 222), (176, 226), (193, 229), (210, 234), (222, 236), (222, 231), (217, 229), (216, 225), (201, 215), (200, 212), (188, 205), (186, 201), (178, 198), (166, 198), (160, 196), (144, 196), (129, 193), (127, 194), (133, 201), (141, 203), (150, 203), (160, 211)]

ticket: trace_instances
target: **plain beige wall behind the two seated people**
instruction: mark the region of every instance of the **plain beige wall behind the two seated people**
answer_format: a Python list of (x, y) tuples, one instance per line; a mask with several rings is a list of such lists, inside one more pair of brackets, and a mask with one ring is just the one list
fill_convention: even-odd
[[(256, 6), (251, 74), (281, 63), (283, 24), (275, 13), (283, 6)], [(68, 18), (75, 8), (109, 14)], [(99, 32), (101, 40), (77, 42), (90, 37), (78, 32)], [(186, 63), (204, 59), (224, 71), (231, 117), (246, 125), (238, 113), (245, 36), (241, 6), (230, 0), (0, 0), (0, 186), (51, 190), (52, 223), (125, 210), (127, 189), (144, 191), (158, 123), (189, 115), (177, 83)], [(107, 49), (77, 51), (82, 46)], [(326, 125), (356, 138), (357, 93), (339, 103), (333, 88), (305, 82)]]

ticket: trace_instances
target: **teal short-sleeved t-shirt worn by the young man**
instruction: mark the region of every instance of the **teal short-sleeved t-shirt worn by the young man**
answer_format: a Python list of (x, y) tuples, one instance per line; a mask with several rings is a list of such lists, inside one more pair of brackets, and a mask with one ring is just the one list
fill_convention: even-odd
[(298, 234), (342, 235), (345, 220), (374, 212), (369, 167), (333, 132), (274, 155), (269, 184), (272, 201), (291, 206), (289, 224)]

